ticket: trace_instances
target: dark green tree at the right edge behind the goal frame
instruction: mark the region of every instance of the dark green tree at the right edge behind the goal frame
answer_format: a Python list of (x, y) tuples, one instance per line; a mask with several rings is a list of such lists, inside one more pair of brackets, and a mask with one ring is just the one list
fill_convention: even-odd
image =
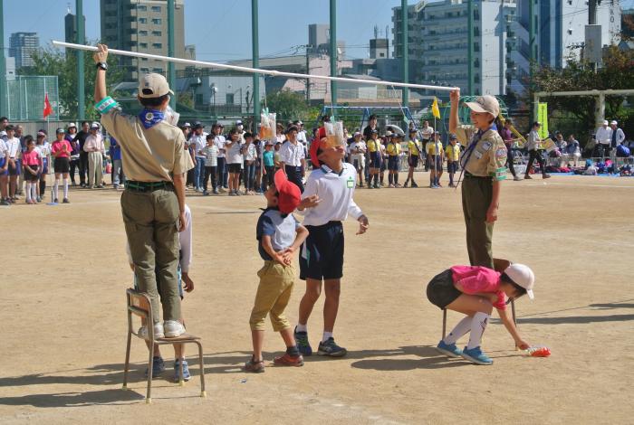
[[(562, 69), (543, 67), (534, 73), (536, 91), (618, 90), (634, 87), (634, 52), (622, 52), (610, 46), (604, 54), (603, 65), (593, 71), (586, 61), (568, 61)], [(532, 94), (531, 94), (532, 96)], [(605, 115), (627, 123), (626, 133), (634, 133), (634, 124), (628, 121), (631, 110), (625, 108), (625, 96), (606, 96)], [(544, 99), (546, 100), (546, 99)], [(549, 114), (572, 115), (580, 129), (595, 126), (595, 98), (570, 96), (547, 98)]]

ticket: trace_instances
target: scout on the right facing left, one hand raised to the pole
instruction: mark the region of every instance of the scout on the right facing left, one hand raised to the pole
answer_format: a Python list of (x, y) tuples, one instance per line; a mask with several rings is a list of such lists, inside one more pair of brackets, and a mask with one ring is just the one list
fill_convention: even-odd
[(471, 109), (472, 126), (461, 126), (458, 120), (460, 90), (450, 94), (449, 131), (466, 145), (460, 158), (465, 172), (462, 184), (462, 209), (466, 223), (466, 250), (472, 266), (493, 269), (493, 225), (497, 220), (500, 186), (506, 178), (506, 146), (494, 121), (500, 105), (493, 96), (480, 96), (466, 102)]

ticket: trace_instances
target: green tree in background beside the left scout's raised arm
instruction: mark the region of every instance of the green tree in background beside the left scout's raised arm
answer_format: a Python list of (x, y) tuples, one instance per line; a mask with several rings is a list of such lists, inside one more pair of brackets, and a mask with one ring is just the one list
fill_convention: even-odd
[[(69, 50), (66, 55), (59, 49), (43, 48), (34, 52), (34, 66), (24, 70), (26, 75), (57, 75), (60, 95), (60, 118), (74, 119), (78, 114), (77, 52), (84, 56), (85, 117), (97, 119), (93, 109), (94, 80), (97, 68), (92, 61), (92, 52)], [(108, 83), (111, 86), (123, 80), (123, 71), (117, 66), (114, 55), (108, 57)], [(110, 88), (109, 88), (110, 89)]]

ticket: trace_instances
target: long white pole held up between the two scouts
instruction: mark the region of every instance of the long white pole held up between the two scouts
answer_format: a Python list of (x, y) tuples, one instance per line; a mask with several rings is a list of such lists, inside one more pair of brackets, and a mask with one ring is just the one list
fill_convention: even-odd
[[(74, 44), (72, 42), (58, 42), (53, 40), (53, 45), (58, 47), (65, 47), (68, 49), (78, 49), (78, 50), (85, 50), (90, 52), (97, 51), (97, 47), (86, 46), (82, 44)], [(203, 68), (219, 68), (222, 70), (232, 70), (232, 71), (273, 75), (274, 77), (291, 77), (291, 78), (302, 78), (302, 79), (311, 78), (315, 80), (345, 81), (345, 82), (354, 82), (357, 84), (371, 84), (371, 85), (377, 85), (377, 86), (408, 87), (409, 89), (427, 89), (427, 90), (444, 90), (444, 91), (451, 91), (451, 90), (457, 89), (456, 87), (429, 86), (427, 84), (408, 84), (404, 82), (385, 81), (385, 80), (357, 80), (357, 79), (343, 78), (343, 77), (329, 77), (325, 75), (312, 75), (312, 74), (300, 74), (296, 72), (262, 70), (258, 68), (248, 68), (245, 66), (227, 65), (226, 63), (193, 61), (190, 59), (170, 58), (168, 56), (160, 56), (158, 54), (128, 52), (128, 51), (116, 50), (116, 49), (108, 49), (108, 52), (112, 54), (120, 54), (122, 56), (132, 56), (136, 58), (146, 58), (146, 59), (153, 59), (157, 61), (171, 61), (175, 63), (183, 63), (185, 65), (195, 65), (195, 66), (199, 66)]]

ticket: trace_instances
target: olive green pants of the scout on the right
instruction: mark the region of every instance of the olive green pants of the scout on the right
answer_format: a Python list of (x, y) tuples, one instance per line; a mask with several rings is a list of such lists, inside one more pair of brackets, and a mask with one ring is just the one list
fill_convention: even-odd
[(462, 182), (462, 211), (465, 213), (466, 251), (472, 266), (493, 269), (493, 222), (486, 222), (486, 211), (493, 198), (490, 177), (465, 176)]

